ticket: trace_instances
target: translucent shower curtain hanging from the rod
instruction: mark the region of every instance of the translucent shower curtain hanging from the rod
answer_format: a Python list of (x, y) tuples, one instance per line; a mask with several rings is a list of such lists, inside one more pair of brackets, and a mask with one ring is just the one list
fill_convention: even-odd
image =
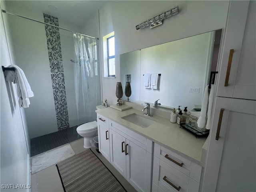
[(96, 106), (100, 105), (100, 70), (97, 40), (74, 34), (74, 84), (78, 126), (96, 120)]

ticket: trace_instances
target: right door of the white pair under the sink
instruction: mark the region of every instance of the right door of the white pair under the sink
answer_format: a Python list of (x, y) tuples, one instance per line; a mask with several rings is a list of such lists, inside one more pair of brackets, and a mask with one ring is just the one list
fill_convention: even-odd
[(126, 139), (126, 180), (137, 190), (151, 191), (152, 154)]

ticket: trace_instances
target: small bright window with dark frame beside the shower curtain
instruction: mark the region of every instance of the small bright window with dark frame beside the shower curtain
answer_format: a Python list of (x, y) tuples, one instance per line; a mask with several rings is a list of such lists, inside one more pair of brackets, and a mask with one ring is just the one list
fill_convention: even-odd
[(114, 32), (103, 37), (104, 77), (115, 77), (115, 36)]

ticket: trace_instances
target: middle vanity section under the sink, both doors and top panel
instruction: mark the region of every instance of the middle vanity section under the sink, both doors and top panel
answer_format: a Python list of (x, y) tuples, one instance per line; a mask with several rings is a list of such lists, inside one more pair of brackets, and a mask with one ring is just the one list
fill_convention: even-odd
[(110, 151), (110, 163), (137, 191), (151, 191), (151, 140), (111, 121)]

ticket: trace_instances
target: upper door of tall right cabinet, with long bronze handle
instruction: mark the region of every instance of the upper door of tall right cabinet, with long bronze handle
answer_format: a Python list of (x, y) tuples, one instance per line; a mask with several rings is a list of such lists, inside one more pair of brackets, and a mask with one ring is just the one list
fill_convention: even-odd
[(248, 6), (230, 1), (217, 96), (256, 100), (255, 1)]

